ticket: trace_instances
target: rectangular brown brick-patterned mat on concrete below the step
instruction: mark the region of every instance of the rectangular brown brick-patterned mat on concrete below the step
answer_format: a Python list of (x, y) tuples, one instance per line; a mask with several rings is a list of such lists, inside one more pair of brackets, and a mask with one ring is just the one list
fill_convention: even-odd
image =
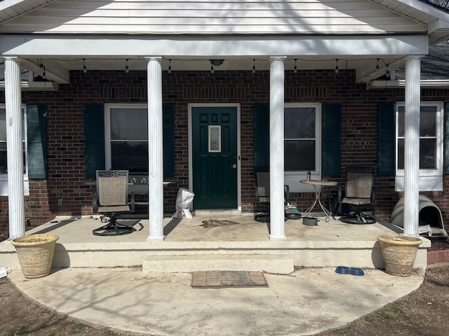
[(192, 273), (192, 287), (268, 287), (268, 284), (258, 271), (199, 271)]

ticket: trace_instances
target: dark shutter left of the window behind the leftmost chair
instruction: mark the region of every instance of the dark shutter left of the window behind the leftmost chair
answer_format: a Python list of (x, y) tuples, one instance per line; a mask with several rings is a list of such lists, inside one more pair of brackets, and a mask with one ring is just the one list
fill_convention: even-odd
[(105, 169), (105, 110), (103, 104), (84, 105), (85, 175), (95, 178), (97, 169)]

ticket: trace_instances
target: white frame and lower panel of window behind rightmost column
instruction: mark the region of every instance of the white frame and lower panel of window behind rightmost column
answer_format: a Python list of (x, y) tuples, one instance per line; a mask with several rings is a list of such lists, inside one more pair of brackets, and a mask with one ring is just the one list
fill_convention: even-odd
[[(396, 191), (404, 190), (404, 169), (398, 169), (398, 110), (405, 102), (396, 102), (395, 108), (395, 169)], [(443, 190), (444, 104), (443, 102), (421, 102), (420, 106), (436, 106), (436, 169), (420, 169), (420, 191)]]

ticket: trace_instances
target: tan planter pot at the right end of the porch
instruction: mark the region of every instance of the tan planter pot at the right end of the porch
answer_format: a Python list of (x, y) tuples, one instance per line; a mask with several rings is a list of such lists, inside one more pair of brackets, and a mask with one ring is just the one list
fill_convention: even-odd
[(377, 240), (382, 248), (385, 272), (395, 276), (409, 276), (422, 240), (403, 235), (381, 235)]

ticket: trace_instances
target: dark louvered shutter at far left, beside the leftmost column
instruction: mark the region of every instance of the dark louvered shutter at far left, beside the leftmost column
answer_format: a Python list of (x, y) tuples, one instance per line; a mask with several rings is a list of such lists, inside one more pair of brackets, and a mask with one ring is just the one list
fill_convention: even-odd
[(27, 105), (28, 179), (47, 178), (47, 118), (43, 104)]

